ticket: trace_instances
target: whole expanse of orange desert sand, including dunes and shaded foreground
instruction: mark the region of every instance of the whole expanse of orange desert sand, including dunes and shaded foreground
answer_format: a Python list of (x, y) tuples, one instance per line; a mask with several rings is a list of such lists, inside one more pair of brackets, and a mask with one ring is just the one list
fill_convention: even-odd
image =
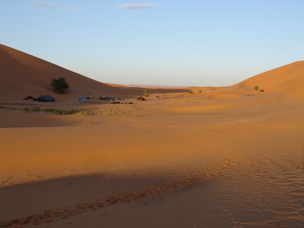
[[(304, 61), (136, 101), (144, 89), (0, 45), (0, 226), (304, 227)], [(40, 95), (55, 102), (22, 100)]]

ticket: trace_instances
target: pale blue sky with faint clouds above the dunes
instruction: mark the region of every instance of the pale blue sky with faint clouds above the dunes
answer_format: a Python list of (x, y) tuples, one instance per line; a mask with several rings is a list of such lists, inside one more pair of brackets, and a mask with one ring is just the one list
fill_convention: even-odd
[(303, 12), (303, 0), (0, 0), (0, 43), (104, 83), (220, 87), (304, 60)]

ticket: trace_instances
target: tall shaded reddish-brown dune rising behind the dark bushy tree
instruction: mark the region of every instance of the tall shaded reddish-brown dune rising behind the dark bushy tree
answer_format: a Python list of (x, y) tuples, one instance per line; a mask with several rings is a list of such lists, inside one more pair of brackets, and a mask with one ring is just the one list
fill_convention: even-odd
[[(134, 94), (4, 45), (0, 45), (0, 69), (0, 94), (5, 97), (5, 100), (20, 99), (29, 95), (38, 97), (41, 94), (51, 95), (59, 100), (77, 100), (80, 96)], [(68, 92), (60, 96), (55, 94), (50, 87), (50, 80), (59, 77), (66, 78), (70, 85)]]

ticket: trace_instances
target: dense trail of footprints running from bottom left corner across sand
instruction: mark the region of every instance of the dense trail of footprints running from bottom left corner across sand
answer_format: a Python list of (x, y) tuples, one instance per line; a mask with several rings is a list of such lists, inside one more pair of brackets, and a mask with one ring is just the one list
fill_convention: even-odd
[(59, 219), (66, 219), (77, 214), (88, 212), (89, 210), (98, 210), (100, 208), (112, 206), (114, 204), (125, 204), (135, 200), (143, 200), (157, 195), (162, 195), (171, 191), (174, 188), (186, 188), (190, 185), (201, 183), (207, 179), (215, 178), (225, 171), (238, 166), (235, 163), (237, 159), (242, 159), (241, 155), (227, 154), (221, 156), (219, 160), (214, 161), (213, 164), (207, 166), (205, 169), (199, 169), (194, 173), (185, 175), (180, 178), (174, 178), (167, 181), (161, 181), (155, 185), (144, 188), (136, 188), (133, 191), (119, 192), (116, 195), (106, 196), (95, 199), (94, 202), (78, 203), (77, 206), (70, 206), (64, 209), (58, 208), (56, 210), (44, 210), (41, 214), (27, 216), (21, 219), (11, 219), (2, 222), (2, 226), (18, 226), (32, 223), (38, 225), (41, 223), (51, 223)]

